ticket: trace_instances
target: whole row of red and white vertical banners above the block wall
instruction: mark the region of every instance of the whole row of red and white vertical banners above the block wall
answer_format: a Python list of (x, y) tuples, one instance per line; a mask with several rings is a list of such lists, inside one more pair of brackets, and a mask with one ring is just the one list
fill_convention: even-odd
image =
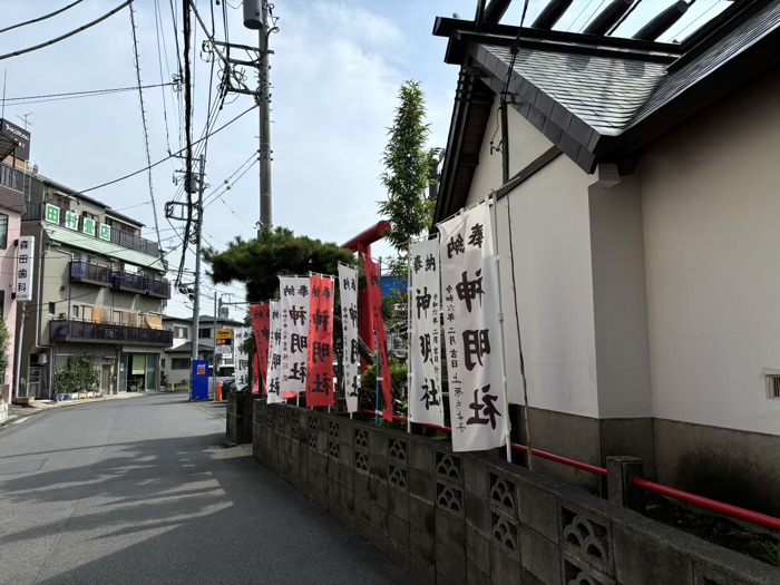
[[(507, 445), (509, 436), (498, 260), (489, 199), (438, 225), (409, 247), (409, 420), (445, 426), (447, 372), (452, 449)], [(392, 420), (392, 379), (381, 311), (379, 269), (364, 259), (381, 368), (382, 416)], [(358, 410), (358, 272), (280, 276), (280, 301), (252, 305), (259, 372), (270, 403), (306, 393), (310, 407), (333, 406), (333, 308), (341, 300), (343, 377), (349, 412)], [(443, 337), (443, 340), (442, 340)]]

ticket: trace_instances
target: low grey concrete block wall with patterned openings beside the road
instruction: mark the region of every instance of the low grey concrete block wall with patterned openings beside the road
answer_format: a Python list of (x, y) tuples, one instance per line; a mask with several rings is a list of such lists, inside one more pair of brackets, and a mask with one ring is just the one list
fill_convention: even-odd
[(496, 457), (255, 400), (255, 457), (426, 585), (769, 585), (780, 571)]

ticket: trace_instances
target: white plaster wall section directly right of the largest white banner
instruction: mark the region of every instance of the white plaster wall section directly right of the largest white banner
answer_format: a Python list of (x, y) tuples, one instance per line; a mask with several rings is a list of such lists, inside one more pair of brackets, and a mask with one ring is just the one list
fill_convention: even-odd
[(559, 156), (498, 202), (497, 223), (510, 401), (523, 403), (508, 207), (529, 404), (597, 417), (591, 181)]

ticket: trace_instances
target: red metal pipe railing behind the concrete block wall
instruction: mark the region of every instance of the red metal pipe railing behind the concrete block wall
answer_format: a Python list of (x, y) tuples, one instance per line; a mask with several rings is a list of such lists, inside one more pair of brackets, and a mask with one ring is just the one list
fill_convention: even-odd
[[(374, 410), (363, 410), (363, 412), (371, 416), (374, 416), (377, 413), (377, 411)], [(393, 416), (392, 419), (399, 422), (407, 421), (404, 417), (399, 416)], [(430, 425), (427, 422), (416, 422), (416, 425), (420, 425), (422, 427), (428, 427), (436, 430), (442, 430), (445, 432), (452, 432), (452, 429), (450, 429), (449, 427), (439, 427), (438, 425)], [(511, 442), (509, 445), (515, 451), (528, 452), (528, 447), (526, 447), (525, 445), (518, 445), (516, 442)], [(568, 457), (562, 457), (559, 455), (540, 451), (538, 449), (533, 449), (532, 452), (534, 457), (538, 457), (540, 459), (556, 461), (558, 464), (567, 465), (576, 469), (582, 469), (583, 471), (588, 471), (597, 476), (607, 476), (606, 468), (604, 467), (584, 464), (582, 461), (577, 461), (576, 459), (569, 459)], [(682, 491), (681, 489), (674, 489), (669, 486), (656, 484), (655, 481), (642, 479), (640, 477), (634, 478), (632, 484), (640, 489), (652, 491), (653, 494), (659, 494), (661, 496), (666, 496), (669, 498), (677, 499), (680, 501), (685, 501), (686, 504), (692, 504), (694, 506), (699, 506), (700, 508), (706, 508), (719, 514), (723, 514), (724, 516), (731, 516), (732, 518), (739, 518), (741, 520), (745, 520), (752, 524), (758, 524), (759, 526), (763, 526), (766, 528), (780, 530), (780, 518), (774, 518), (772, 516), (767, 516), (766, 514), (760, 514), (758, 511), (740, 508), (739, 506), (732, 506), (731, 504), (724, 504), (722, 501), (705, 498), (703, 496), (696, 496), (695, 494)]]

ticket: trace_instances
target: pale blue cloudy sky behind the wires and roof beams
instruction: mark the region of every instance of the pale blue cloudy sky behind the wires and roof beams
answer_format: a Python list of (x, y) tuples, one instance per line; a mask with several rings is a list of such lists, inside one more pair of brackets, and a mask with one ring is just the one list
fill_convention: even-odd
[[(223, 0), (224, 2), (225, 0)], [(604, 0), (575, 0), (556, 28), (578, 30)], [(256, 45), (256, 33), (242, 26), (241, 0), (228, 0), (232, 42)], [(65, 6), (66, 2), (56, 2)], [(0, 53), (29, 47), (75, 29), (107, 12), (119, 0), (90, 0), (29, 27), (0, 35)], [(630, 35), (649, 14), (671, 4), (671, 0), (644, 0), (620, 32)], [(159, 7), (167, 46), (163, 55), (163, 78), (175, 71), (175, 48), (170, 0), (136, 0), (136, 23), (144, 84), (159, 84), (158, 37), (155, 7)], [(181, 0), (173, 0), (181, 11)], [(228, 6), (230, 6), (228, 4)], [(39, 17), (53, 9), (51, 0), (2, 2), (3, 22)], [(209, 2), (198, 1), (198, 10), (209, 21)], [(544, 6), (532, 0), (526, 22)], [(714, 16), (725, 0), (700, 0), (672, 28), (673, 38), (688, 23), (708, 12)], [(379, 182), (380, 157), (387, 127), (392, 123), (399, 85), (407, 79), (421, 81), (428, 98), (431, 146), (445, 146), (455, 96), (457, 67), (443, 64), (446, 39), (431, 36), (436, 16), (472, 18), (476, 0), (276, 0), (274, 14), (281, 31), (271, 39), (273, 104), (273, 218), (275, 225), (295, 233), (341, 243), (378, 221), (376, 202), (384, 194)], [(216, 8), (221, 22), (222, 7)], [(519, 23), (521, 2), (515, 0), (506, 23)], [(577, 19), (578, 17), (578, 19)], [(700, 21), (700, 23), (703, 19)], [(194, 26), (197, 26), (194, 22)], [(181, 28), (181, 20), (179, 20)], [(693, 29), (690, 29), (688, 32)], [(224, 39), (217, 23), (217, 38)], [(198, 52), (203, 31), (197, 29), (194, 57), (195, 124), (201, 135), (206, 120), (209, 65)], [(665, 38), (664, 38), (665, 40)], [(165, 52), (165, 51), (163, 51)], [(7, 97), (37, 96), (135, 85), (129, 13), (124, 9), (97, 27), (57, 46), (0, 62), (8, 77)], [(247, 71), (247, 85), (255, 77)], [(164, 97), (165, 96), (165, 97)], [(179, 148), (176, 96), (172, 88), (144, 91), (152, 160), (166, 156), (167, 143)], [(168, 130), (164, 121), (165, 99)], [(216, 125), (226, 123), (252, 104), (248, 96), (228, 97)], [(110, 97), (58, 100), (6, 107), (6, 117), (29, 114), (32, 123), (32, 159), (40, 172), (77, 189), (88, 188), (146, 166), (137, 91)], [(206, 175), (214, 187), (241, 173), (257, 148), (257, 115), (241, 121), (209, 140)], [(154, 169), (153, 183), (159, 217), (160, 238), (166, 247), (181, 245), (175, 230), (162, 217), (163, 205), (176, 194), (172, 177), (182, 168), (167, 162)], [(237, 176), (237, 175), (234, 175)], [(257, 166), (214, 198), (205, 214), (204, 234), (217, 248), (234, 236), (251, 237), (259, 216)], [(145, 237), (156, 240), (154, 214), (145, 174), (90, 193), (116, 209), (143, 221)], [(181, 224), (174, 224), (181, 225)], [(374, 253), (388, 254), (387, 245)], [(177, 265), (181, 247), (169, 254)], [(187, 266), (194, 265), (189, 254)], [(206, 280), (206, 283), (208, 281)], [(206, 287), (205, 295), (213, 294)], [(221, 293), (243, 300), (241, 286), (220, 285)], [(204, 299), (206, 306), (211, 303)], [(181, 296), (168, 308), (186, 315)], [(204, 311), (205, 312), (205, 311)]]

